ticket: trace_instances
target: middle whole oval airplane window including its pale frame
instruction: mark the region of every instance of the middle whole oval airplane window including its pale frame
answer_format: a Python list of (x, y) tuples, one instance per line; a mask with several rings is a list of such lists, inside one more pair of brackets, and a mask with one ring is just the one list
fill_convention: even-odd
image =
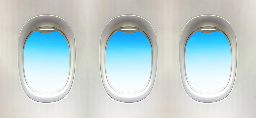
[(145, 99), (155, 82), (156, 65), (156, 35), (145, 18), (122, 15), (107, 23), (100, 41), (100, 70), (111, 98), (126, 103)]

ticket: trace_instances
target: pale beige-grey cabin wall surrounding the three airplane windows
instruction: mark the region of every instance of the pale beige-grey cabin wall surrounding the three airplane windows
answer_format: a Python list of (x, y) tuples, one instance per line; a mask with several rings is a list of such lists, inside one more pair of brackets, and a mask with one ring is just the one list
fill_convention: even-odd
[[(256, 117), (256, 1), (253, 0), (1, 0), (0, 117), (164, 118)], [(74, 81), (60, 101), (39, 103), (24, 92), (18, 70), (18, 39), (30, 18), (66, 20), (76, 44)], [(153, 26), (158, 45), (154, 87), (142, 101), (118, 102), (106, 93), (100, 73), (100, 38), (109, 20), (132, 14)], [(179, 41), (184, 25), (199, 15), (226, 19), (236, 35), (237, 72), (230, 94), (214, 103), (191, 99), (182, 84)]]

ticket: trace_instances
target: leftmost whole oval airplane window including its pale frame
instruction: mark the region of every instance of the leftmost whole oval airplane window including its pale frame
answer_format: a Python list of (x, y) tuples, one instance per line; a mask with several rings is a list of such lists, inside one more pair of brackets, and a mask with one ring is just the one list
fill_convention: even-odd
[(22, 88), (32, 100), (49, 103), (67, 96), (75, 71), (69, 24), (53, 15), (29, 19), (19, 35), (18, 65)]

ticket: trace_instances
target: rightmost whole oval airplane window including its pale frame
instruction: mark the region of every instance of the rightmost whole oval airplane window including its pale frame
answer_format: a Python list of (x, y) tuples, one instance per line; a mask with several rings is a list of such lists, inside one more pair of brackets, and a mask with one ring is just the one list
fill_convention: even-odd
[(236, 75), (236, 36), (222, 17), (201, 15), (187, 22), (180, 38), (183, 87), (192, 99), (211, 103), (228, 96)]

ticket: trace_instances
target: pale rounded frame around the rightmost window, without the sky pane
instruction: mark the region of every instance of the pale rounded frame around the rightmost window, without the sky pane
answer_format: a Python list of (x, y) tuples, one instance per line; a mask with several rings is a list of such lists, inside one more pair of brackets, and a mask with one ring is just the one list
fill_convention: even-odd
[[(187, 44), (187, 40), (191, 36), (191, 33), (201, 29), (201, 28), (216, 28), (222, 31), (226, 38), (229, 41), (230, 49), (231, 49), (231, 70), (230, 70), (230, 77), (226, 86), (217, 91), (217, 92), (210, 92), (210, 93), (202, 93), (194, 90), (190, 87), (187, 77), (186, 77), (186, 67), (185, 67), (185, 48)], [(215, 15), (201, 15), (190, 19), (186, 25), (184, 26), (181, 37), (180, 37), (180, 48), (179, 48), (179, 56), (180, 56), (180, 71), (181, 71), (181, 78), (182, 83), (185, 88), (185, 91), (192, 99), (211, 103), (220, 101), (228, 96), (231, 92), (236, 75), (236, 66), (237, 66), (237, 44), (236, 44), (236, 37), (232, 26), (222, 17), (215, 16)]]

